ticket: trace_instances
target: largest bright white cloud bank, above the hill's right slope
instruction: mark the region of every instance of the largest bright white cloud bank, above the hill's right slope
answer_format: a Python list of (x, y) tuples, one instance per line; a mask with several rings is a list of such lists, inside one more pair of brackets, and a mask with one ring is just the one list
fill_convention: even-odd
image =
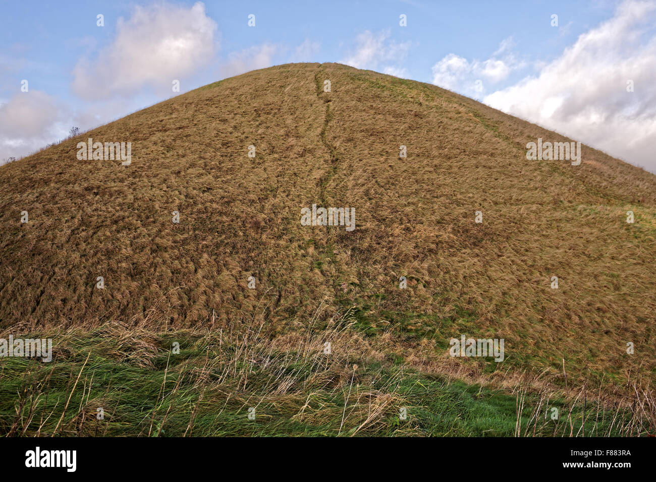
[(626, 1), (539, 74), (484, 102), (656, 172), (655, 20), (656, 2)]

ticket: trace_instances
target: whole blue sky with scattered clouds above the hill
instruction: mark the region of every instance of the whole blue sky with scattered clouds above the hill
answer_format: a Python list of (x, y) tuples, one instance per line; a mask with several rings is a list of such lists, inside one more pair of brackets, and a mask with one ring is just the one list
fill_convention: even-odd
[(656, 171), (654, 4), (5, 1), (0, 159), (176, 95), (173, 79), (185, 92), (254, 68), (341, 62), (441, 85)]

